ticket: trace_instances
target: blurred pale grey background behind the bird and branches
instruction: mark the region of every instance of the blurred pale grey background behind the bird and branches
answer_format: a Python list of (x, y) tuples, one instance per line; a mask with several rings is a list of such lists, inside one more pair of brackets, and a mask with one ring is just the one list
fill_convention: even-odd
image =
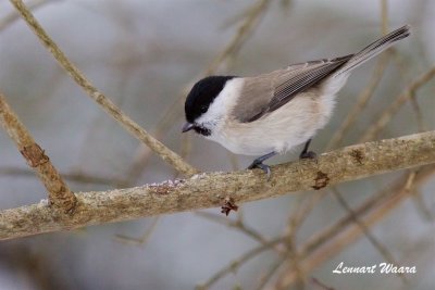
[[(169, 108), (182, 98), (183, 89), (200, 77), (225, 49), (237, 34), (243, 12), (254, 3), (63, 0), (49, 1), (36, 9), (35, 15), (70, 60), (152, 133)], [(0, 23), (13, 11), (9, 1), (0, 0)], [(368, 108), (343, 144), (358, 142), (407, 84), (434, 65), (434, 1), (388, 1), (389, 29), (412, 25), (412, 37), (396, 46), (405, 71), (400, 72), (395, 62), (389, 63)], [(378, 37), (381, 26), (380, 1), (271, 1), (249, 39), (217, 73), (254, 75), (290, 63), (352, 53)], [(314, 151), (325, 150), (357, 96), (368, 86), (375, 63), (376, 60), (363, 65), (349, 78), (334, 118), (313, 141)], [(144, 169), (134, 167), (144, 153), (139, 142), (59, 67), (21, 18), (0, 30), (0, 90), (60, 172), (78, 176), (67, 179), (72, 190), (104, 190), (174, 178), (174, 172), (154, 155)], [(435, 129), (434, 81), (418, 91), (418, 100), (425, 129)], [(251, 157), (231, 156), (219, 144), (199, 137), (191, 136), (186, 141), (186, 136), (179, 134), (183, 105), (177, 105), (171, 115), (176, 118), (159, 137), (178, 153), (189, 144), (187, 160), (192, 165), (202, 171), (232, 171), (236, 165), (243, 168), (250, 163)], [(408, 102), (381, 137), (417, 131), (417, 117)], [(296, 157), (296, 152), (289, 153), (271, 163)], [(84, 176), (94, 181), (85, 182)], [(339, 189), (351, 205), (357, 205), (398, 176), (377, 176), (345, 184)], [(432, 214), (434, 190), (434, 179), (420, 189), (425, 211)], [(244, 204), (244, 220), (264, 238), (276, 237), (285, 230), (288, 216), (303, 194), (308, 193)], [(23, 157), (0, 130), (1, 209), (45, 198), (45, 188), (27, 174)], [(207, 212), (219, 214), (219, 209)], [(422, 212), (408, 200), (371, 228), (399, 265), (417, 266), (418, 273), (408, 277), (408, 283), (396, 275), (332, 274), (341, 261), (355, 266), (384, 261), (362, 237), (306, 273), (307, 289), (322, 289), (310, 282), (311, 277), (334, 289), (433, 289), (435, 226)], [(326, 196), (301, 225), (298, 242), (303, 243), (345, 214), (336, 199)], [(236, 216), (232, 213), (229, 218)], [(137, 238), (147, 231), (151, 234), (141, 244), (116, 238)], [(192, 289), (257, 245), (240, 230), (195, 213), (41, 235), (0, 243), (0, 289)], [(256, 289), (259, 277), (268, 273), (275, 260), (276, 253), (266, 251), (212, 289)]]

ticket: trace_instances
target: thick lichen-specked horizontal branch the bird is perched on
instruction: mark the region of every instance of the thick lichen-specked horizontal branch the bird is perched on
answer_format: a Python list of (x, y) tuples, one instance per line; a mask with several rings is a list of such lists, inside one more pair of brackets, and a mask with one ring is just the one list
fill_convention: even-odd
[(5, 210), (0, 212), (0, 239), (213, 207), (227, 196), (236, 202), (254, 201), (431, 163), (435, 163), (435, 131), (356, 144), (324, 153), (316, 161), (276, 165), (270, 181), (257, 169), (78, 193), (76, 211), (66, 220), (59, 219), (46, 202)]

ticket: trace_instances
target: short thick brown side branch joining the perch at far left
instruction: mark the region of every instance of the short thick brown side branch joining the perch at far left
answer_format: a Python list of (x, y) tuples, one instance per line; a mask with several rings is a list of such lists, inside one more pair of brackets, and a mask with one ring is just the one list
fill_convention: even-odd
[(76, 198), (51, 164), (45, 151), (35, 142), (18, 116), (0, 92), (0, 125), (4, 128), (17, 149), (47, 188), (50, 204), (65, 212), (74, 210)]

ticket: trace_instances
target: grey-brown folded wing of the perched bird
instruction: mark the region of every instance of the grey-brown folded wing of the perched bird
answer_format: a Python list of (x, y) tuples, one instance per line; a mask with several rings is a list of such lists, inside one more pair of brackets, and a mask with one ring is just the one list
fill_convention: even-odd
[[(326, 78), (338, 70), (341, 65), (347, 63), (353, 54), (349, 54), (333, 60), (319, 60), (311, 61), (301, 64), (294, 64), (285, 70), (272, 72), (266, 75), (250, 78), (252, 88), (261, 88), (264, 90), (268, 87), (269, 92), (263, 97), (256, 97), (258, 100), (250, 99), (250, 93), (243, 96), (252, 108), (241, 113), (243, 109), (239, 108), (239, 112), (236, 115), (243, 116), (238, 119), (240, 122), (249, 123), (253, 122), (266, 113), (273, 112), (276, 109), (283, 106), (289, 102), (296, 94), (301, 91), (306, 91), (319, 84), (322, 79)], [(269, 83), (268, 83), (269, 81)], [(259, 83), (258, 85), (254, 85)], [(251, 89), (253, 90), (253, 89)], [(245, 94), (245, 93), (244, 93)], [(256, 96), (258, 96), (256, 91)], [(240, 102), (240, 105), (243, 105)]]

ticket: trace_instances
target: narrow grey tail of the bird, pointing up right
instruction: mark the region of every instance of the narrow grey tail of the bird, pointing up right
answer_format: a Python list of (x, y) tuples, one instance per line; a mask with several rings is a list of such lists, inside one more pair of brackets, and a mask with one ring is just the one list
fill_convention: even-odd
[(409, 25), (405, 25), (369, 45), (360, 52), (353, 54), (353, 56), (335, 73), (335, 76), (348, 73), (371, 58), (376, 56), (396, 41), (408, 37), (411, 34), (410, 28)]

